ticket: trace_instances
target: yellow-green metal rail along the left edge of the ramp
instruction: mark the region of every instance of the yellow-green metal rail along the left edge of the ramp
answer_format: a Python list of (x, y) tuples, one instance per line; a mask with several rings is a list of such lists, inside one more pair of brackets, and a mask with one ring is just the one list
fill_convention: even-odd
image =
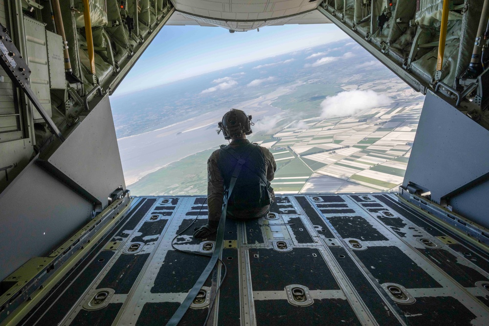
[[(114, 207), (118, 206), (120, 204), (122, 199), (117, 199), (109, 205), (102, 213), (100, 213), (97, 217), (100, 216), (102, 218), (106, 214), (109, 214)], [(78, 250), (75, 252), (63, 265), (58, 268), (56, 271), (53, 272), (53, 275), (46, 280), (42, 285), (37, 284), (39, 288), (34, 291), (31, 296), (30, 300), (24, 302), (21, 304), (16, 310), (12, 311), (9, 314), (9, 317), (5, 319), (3, 322), (0, 323), (0, 326), (14, 326), (18, 325), (22, 318), (24, 318), (29, 311), (38, 304), (46, 294), (49, 293), (49, 291), (58, 283), (66, 274), (69, 272), (73, 267), (76, 266), (76, 264), (86, 255), (87, 252), (89, 252), (97, 243), (100, 239), (104, 237), (104, 235), (112, 228), (114, 224), (116, 224), (121, 217), (124, 216), (124, 214), (128, 211), (128, 209), (131, 207), (131, 202), (133, 199), (129, 200), (126, 204), (126, 206), (116, 214), (115, 217), (111, 218), (110, 221), (108, 221), (102, 229), (100, 229), (90, 240), (89, 242), (85, 243), (82, 247), (82, 249)], [(92, 220), (93, 221), (93, 220)], [(89, 223), (91, 225), (91, 222)], [(82, 230), (85, 230), (88, 226), (86, 225)], [(62, 246), (65, 246), (66, 243), (64, 243)], [(56, 252), (59, 252), (61, 249), (57, 250)], [(14, 273), (9, 275), (8, 278), (6, 278), (4, 281), (17, 281), (17, 284), (19, 286), (22, 286), (23, 283), (27, 283), (30, 280), (32, 280), (35, 275), (44, 268), (45, 265), (49, 265), (53, 260), (54, 257), (35, 257), (27, 261), (24, 265), (22, 265), (21, 268), (16, 270)], [(44, 265), (44, 266), (41, 266)], [(12, 288), (10, 288), (11, 291), (15, 291), (17, 289), (17, 284), (14, 285)], [(11, 291), (7, 292), (10, 293)], [(14, 293), (14, 292), (12, 292)], [(0, 297), (0, 302), (1, 300), (5, 299), (6, 293)], [(12, 294), (11, 294), (12, 295)]]

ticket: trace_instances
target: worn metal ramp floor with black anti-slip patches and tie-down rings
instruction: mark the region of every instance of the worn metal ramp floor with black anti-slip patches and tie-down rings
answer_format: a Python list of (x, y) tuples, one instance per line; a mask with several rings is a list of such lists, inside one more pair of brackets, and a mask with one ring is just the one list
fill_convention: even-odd
[[(20, 325), (165, 325), (205, 268), (205, 197), (136, 197)], [(122, 225), (123, 224), (123, 225)], [(207, 325), (488, 325), (489, 256), (394, 194), (277, 196), (227, 220)], [(203, 325), (223, 270), (179, 325)]]

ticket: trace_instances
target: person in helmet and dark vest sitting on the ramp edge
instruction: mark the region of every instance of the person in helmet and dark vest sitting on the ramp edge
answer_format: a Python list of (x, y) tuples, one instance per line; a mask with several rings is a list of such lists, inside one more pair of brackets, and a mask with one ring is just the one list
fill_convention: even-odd
[(250, 143), (251, 115), (231, 109), (218, 124), (229, 145), (221, 145), (207, 160), (208, 222), (194, 232), (195, 238), (206, 238), (217, 231), (224, 196), (228, 196), (232, 174), (240, 159), (245, 162), (228, 199), (226, 217), (252, 219), (268, 214), (275, 194), (270, 186), (277, 165), (272, 153)]

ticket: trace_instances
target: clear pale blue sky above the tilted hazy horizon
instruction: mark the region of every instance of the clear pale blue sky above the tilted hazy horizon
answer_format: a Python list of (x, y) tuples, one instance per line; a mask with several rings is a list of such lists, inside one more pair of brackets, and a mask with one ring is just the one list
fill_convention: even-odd
[(222, 27), (163, 26), (113, 96), (345, 38), (334, 24), (235, 33)]

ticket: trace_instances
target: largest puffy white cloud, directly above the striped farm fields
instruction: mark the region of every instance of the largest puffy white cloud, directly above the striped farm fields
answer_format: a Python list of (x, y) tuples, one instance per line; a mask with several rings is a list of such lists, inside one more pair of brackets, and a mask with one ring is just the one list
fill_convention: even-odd
[(328, 96), (321, 102), (321, 109), (323, 109), (321, 117), (346, 116), (391, 103), (392, 100), (387, 95), (373, 90), (350, 90)]

